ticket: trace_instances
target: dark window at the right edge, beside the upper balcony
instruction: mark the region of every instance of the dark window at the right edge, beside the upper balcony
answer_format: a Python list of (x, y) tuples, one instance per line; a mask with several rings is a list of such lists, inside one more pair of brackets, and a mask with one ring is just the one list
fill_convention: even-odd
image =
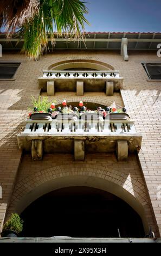
[(161, 80), (161, 63), (142, 63), (151, 80)]

